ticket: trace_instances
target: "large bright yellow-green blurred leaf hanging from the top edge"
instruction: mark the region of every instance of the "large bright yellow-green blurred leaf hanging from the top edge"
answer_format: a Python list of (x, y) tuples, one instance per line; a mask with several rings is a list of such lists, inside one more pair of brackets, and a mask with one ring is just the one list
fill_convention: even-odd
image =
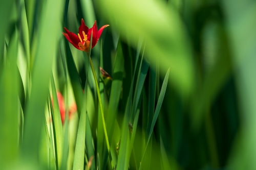
[(166, 8), (160, 1), (97, 2), (102, 16), (108, 18), (123, 37), (133, 44), (139, 36), (146, 39), (146, 55), (153, 61), (159, 59), (162, 74), (170, 68), (170, 80), (180, 94), (191, 92), (195, 80), (192, 51), (176, 10)]

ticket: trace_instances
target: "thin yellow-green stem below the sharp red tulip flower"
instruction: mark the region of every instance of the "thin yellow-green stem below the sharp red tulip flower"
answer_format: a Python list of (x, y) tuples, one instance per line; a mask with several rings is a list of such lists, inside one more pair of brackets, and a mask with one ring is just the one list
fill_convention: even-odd
[(93, 71), (93, 77), (94, 77), (94, 81), (95, 81), (95, 84), (96, 84), (96, 90), (97, 90), (97, 94), (98, 94), (99, 108), (100, 108), (100, 113), (101, 113), (101, 118), (102, 118), (103, 129), (104, 129), (104, 136), (105, 136), (105, 139), (106, 139), (106, 147), (108, 148), (111, 167), (112, 167), (112, 169), (114, 169), (114, 165), (113, 165), (112, 157), (111, 157), (111, 153), (110, 153), (109, 138), (108, 138), (108, 134), (106, 133), (106, 125), (105, 125), (105, 119), (104, 119), (104, 114), (103, 114), (103, 109), (102, 109), (102, 104), (101, 104), (101, 99), (100, 99), (99, 85), (98, 85), (98, 81), (97, 81), (97, 77), (96, 77), (96, 74), (95, 74), (95, 70), (94, 70), (94, 67), (93, 67), (93, 62), (92, 62), (91, 57), (89, 57), (89, 59), (90, 59), (90, 64), (91, 64), (91, 68), (92, 68), (92, 71)]

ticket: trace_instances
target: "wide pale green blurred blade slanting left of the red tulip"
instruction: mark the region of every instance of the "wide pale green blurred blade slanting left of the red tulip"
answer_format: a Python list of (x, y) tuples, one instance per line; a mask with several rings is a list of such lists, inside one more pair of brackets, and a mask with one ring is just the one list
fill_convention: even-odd
[[(31, 95), (25, 114), (24, 127), (23, 153), (25, 157), (32, 159), (35, 159), (38, 155), (40, 132), (45, 116), (49, 81), (52, 74), (52, 62), (56, 52), (57, 40), (61, 34), (59, 20), (61, 19), (62, 9), (62, 1), (48, 1), (44, 8), (45, 15), (41, 15), (36, 59), (31, 79)], [(50, 39), (51, 41), (49, 41)]]

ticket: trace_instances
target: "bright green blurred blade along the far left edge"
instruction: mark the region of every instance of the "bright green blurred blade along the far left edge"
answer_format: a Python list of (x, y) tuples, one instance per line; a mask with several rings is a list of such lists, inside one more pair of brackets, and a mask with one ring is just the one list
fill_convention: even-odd
[[(1, 8), (1, 7), (0, 7)], [(1, 33), (0, 33), (1, 34)], [(3, 169), (18, 153), (18, 79), (17, 79), (17, 31), (11, 37), (7, 51), (7, 64), (0, 77), (0, 164)]]

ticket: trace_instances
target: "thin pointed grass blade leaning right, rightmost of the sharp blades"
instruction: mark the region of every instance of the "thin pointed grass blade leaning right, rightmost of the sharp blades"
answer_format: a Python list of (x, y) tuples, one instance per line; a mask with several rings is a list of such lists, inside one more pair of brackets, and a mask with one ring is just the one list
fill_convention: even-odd
[[(144, 158), (144, 155), (145, 155), (145, 152), (146, 152), (146, 149), (147, 149), (147, 145), (150, 142), (150, 138), (151, 138), (151, 135), (153, 133), (153, 129), (154, 129), (154, 126), (156, 124), (157, 117), (158, 117), (159, 111), (160, 111), (162, 103), (163, 103), (164, 94), (165, 94), (167, 83), (168, 83), (168, 78), (169, 78), (169, 69), (167, 70), (166, 75), (165, 75), (164, 80), (163, 80), (163, 85), (162, 85), (162, 88), (161, 88), (161, 91), (160, 91), (160, 95), (159, 95), (159, 99), (158, 99), (158, 102), (157, 102), (155, 114), (154, 114), (154, 117), (153, 117), (153, 120), (152, 120), (152, 124), (151, 124), (151, 128), (150, 128), (150, 133), (149, 133), (149, 135), (147, 137), (146, 147), (145, 147), (142, 159), (141, 159), (141, 166), (144, 163), (143, 162), (143, 158)], [(141, 166), (140, 166), (140, 168), (141, 168)]]

